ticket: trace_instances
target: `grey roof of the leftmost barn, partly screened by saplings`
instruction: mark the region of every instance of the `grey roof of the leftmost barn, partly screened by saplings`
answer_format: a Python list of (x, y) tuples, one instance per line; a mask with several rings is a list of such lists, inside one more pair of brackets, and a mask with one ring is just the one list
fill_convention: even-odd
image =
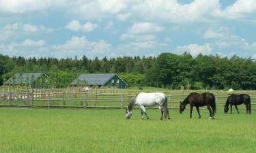
[[(40, 78), (40, 76), (46, 75), (45, 73), (16, 73), (4, 84), (31, 84), (33, 81)], [(33, 80), (32, 80), (33, 76)], [(46, 75), (48, 78), (48, 76)]]

